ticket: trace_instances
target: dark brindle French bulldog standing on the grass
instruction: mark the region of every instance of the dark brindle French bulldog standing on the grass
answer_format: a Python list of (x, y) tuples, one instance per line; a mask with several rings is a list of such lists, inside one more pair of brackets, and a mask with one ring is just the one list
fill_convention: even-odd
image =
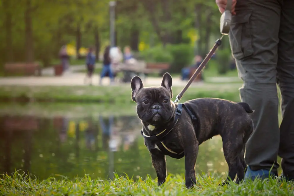
[[(220, 185), (234, 180), (236, 175), (236, 183), (243, 180), (245, 143), (254, 130), (250, 116), (254, 111), (250, 105), (218, 98), (196, 98), (184, 102), (182, 113), (178, 115), (180, 103), (171, 100), (172, 77), (169, 73), (163, 75), (158, 87), (144, 87), (141, 78), (134, 76), (131, 89), (132, 100), (137, 103), (136, 111), (143, 124), (144, 144), (150, 152), (159, 186), (166, 180), (165, 156), (175, 153), (182, 154), (180, 158), (185, 157), (185, 184), (187, 188), (193, 187), (196, 184), (198, 146), (215, 135), (222, 138), (228, 163), (228, 177)], [(158, 143), (154, 136), (163, 132), (166, 133), (159, 137)]]

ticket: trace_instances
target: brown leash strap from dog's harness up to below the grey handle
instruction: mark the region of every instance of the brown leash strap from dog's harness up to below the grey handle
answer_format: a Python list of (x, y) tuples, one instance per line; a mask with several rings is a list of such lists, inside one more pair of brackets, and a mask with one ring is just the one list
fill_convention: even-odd
[(176, 96), (176, 100), (174, 101), (175, 103), (177, 103), (177, 102), (180, 101), (180, 99), (182, 98), (182, 96), (184, 95), (184, 93), (187, 91), (187, 89), (189, 88), (189, 86), (191, 85), (191, 83), (195, 80), (195, 78), (198, 76), (198, 74), (201, 72), (201, 70), (206, 66), (206, 64), (210, 60), (211, 56), (213, 55), (213, 53), (216, 51), (216, 49), (218, 48), (218, 46), (221, 45), (221, 39), (222, 38), (223, 38), (223, 35), (218, 40), (216, 40), (216, 43), (214, 44), (213, 48), (209, 51), (209, 53), (206, 55), (206, 57), (204, 58), (204, 60), (200, 64), (200, 66), (196, 69), (196, 71), (194, 72), (194, 74), (192, 75), (192, 77), (190, 78), (190, 80), (188, 81), (188, 83), (186, 84), (186, 86)]

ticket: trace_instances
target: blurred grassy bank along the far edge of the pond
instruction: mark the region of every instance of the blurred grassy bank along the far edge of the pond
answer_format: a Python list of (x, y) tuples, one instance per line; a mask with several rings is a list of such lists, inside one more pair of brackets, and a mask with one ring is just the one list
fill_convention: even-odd
[[(191, 86), (181, 101), (216, 97), (239, 101), (240, 84)], [(174, 97), (182, 87), (173, 87)], [(174, 98), (173, 98), (174, 99)], [(0, 100), (39, 102), (133, 103), (129, 84), (120, 86), (0, 86)]]

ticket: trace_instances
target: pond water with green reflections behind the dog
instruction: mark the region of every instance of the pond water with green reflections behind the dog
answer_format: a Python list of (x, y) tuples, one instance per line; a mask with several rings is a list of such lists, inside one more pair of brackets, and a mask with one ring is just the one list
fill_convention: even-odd
[[(39, 179), (91, 174), (107, 179), (113, 172), (134, 178), (156, 173), (136, 115), (1, 115), (0, 173), (29, 172)], [(168, 173), (184, 174), (184, 158), (167, 159)], [(224, 175), (222, 141), (216, 136), (199, 147), (197, 173)]]

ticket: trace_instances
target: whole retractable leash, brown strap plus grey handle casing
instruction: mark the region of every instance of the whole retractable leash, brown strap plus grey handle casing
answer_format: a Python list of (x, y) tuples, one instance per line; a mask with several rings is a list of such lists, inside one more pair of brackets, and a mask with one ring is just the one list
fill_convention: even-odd
[(227, 1), (227, 6), (225, 8), (225, 11), (223, 12), (222, 16), (220, 17), (220, 33), (222, 36), (215, 42), (213, 48), (209, 51), (209, 53), (206, 55), (200, 66), (196, 69), (186, 86), (183, 88), (183, 90), (176, 96), (176, 100), (174, 103), (177, 103), (180, 101), (184, 93), (187, 91), (191, 83), (195, 80), (195, 78), (199, 75), (199, 73), (202, 71), (202, 69), (206, 66), (208, 61), (211, 59), (213, 53), (216, 51), (218, 46), (221, 45), (221, 40), (224, 35), (228, 35), (230, 31), (230, 26), (231, 26), (231, 20), (232, 20), (232, 14), (231, 14), (231, 9), (232, 9), (232, 0)]

